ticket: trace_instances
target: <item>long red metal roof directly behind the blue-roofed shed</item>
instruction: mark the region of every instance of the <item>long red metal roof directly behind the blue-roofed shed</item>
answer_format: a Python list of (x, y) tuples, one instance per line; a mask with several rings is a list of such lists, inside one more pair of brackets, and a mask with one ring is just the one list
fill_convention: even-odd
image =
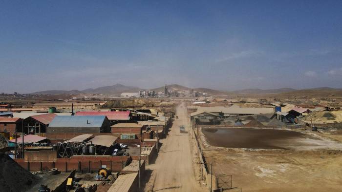
[(106, 115), (109, 120), (129, 120), (129, 111), (80, 111), (75, 115), (85, 116), (85, 115)]

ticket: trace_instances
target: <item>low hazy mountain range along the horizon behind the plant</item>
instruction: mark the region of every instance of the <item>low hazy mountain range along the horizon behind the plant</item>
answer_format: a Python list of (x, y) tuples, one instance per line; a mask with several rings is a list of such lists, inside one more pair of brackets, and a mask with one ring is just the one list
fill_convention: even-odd
[[(170, 91), (188, 91), (191, 88), (185, 87), (178, 84), (171, 84), (168, 85), (168, 88)], [(309, 91), (309, 90), (316, 90), (316, 91), (339, 91), (342, 89), (334, 89), (330, 87), (319, 87), (319, 88), (313, 88), (313, 89), (292, 89), (292, 88), (280, 88), (280, 89), (244, 89), (244, 90), (237, 90), (237, 91), (219, 91), (214, 89), (208, 89), (208, 88), (192, 88), (194, 90), (197, 90), (202, 93), (208, 93), (211, 95), (217, 95), (217, 94), (279, 94), (279, 93), (288, 93), (288, 92), (296, 92), (296, 91)], [(132, 86), (126, 86), (122, 84), (115, 84), (112, 86), (105, 86), (105, 87), (98, 87), (95, 89), (85, 89), (82, 91), (79, 90), (48, 90), (48, 91), (40, 91), (35, 92), (31, 94), (42, 94), (42, 95), (60, 95), (60, 94), (109, 94), (109, 95), (118, 95), (124, 92), (138, 92), (140, 90), (151, 90), (155, 92), (164, 92), (164, 86), (154, 88), (154, 89), (141, 89), (139, 87), (132, 87)]]

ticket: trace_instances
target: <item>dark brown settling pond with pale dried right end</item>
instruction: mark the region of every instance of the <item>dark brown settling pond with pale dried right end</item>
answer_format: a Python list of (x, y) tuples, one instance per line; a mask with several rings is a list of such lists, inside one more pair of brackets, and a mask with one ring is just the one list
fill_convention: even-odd
[(321, 139), (295, 131), (254, 128), (203, 128), (207, 142), (215, 147), (251, 149), (321, 148)]

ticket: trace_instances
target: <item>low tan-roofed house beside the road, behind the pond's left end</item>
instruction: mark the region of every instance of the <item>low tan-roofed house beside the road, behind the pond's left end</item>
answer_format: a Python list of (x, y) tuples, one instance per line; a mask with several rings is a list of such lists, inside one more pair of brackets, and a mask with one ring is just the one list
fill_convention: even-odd
[(191, 120), (195, 120), (198, 125), (216, 125), (219, 124), (218, 119), (221, 118), (220, 115), (205, 111), (193, 112), (190, 116)]

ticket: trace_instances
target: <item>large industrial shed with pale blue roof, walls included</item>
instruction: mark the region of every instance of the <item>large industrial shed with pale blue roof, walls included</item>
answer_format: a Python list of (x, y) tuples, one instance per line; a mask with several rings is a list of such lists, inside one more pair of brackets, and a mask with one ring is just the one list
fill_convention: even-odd
[(110, 133), (106, 116), (56, 116), (47, 133)]

